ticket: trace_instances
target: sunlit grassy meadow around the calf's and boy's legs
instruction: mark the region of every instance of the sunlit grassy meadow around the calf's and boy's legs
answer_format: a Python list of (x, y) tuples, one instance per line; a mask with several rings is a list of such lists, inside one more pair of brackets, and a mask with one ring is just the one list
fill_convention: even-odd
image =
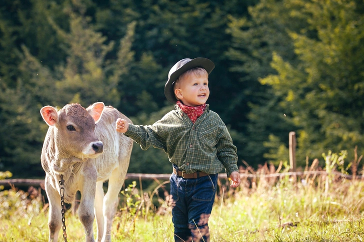
[[(276, 172), (260, 170), (269, 171)], [(363, 241), (363, 185), (362, 180), (333, 174), (246, 178), (236, 190), (219, 184), (209, 220), (210, 241)], [(135, 184), (123, 193), (113, 223), (114, 242), (173, 241), (168, 201), (159, 199), (159, 209), (148, 205), (148, 196), (140, 196)], [(47, 241), (47, 206), (36, 192), (1, 191), (0, 206), (0, 242)], [(67, 211), (65, 223), (68, 242), (85, 241), (77, 215)], [(61, 232), (58, 241), (64, 241)]]

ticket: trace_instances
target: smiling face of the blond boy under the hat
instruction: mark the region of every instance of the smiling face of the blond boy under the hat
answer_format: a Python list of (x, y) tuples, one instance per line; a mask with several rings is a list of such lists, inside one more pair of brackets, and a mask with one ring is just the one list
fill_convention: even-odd
[(184, 105), (191, 107), (206, 103), (210, 94), (208, 76), (195, 74), (185, 75), (179, 80), (174, 94)]

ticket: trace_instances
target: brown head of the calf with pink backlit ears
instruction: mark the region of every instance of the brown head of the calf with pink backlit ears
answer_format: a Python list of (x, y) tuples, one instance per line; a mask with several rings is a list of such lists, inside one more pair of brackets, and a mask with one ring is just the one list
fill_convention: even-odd
[(56, 149), (64, 156), (82, 160), (95, 158), (103, 152), (103, 144), (95, 135), (95, 124), (100, 120), (104, 104), (97, 102), (87, 109), (79, 104), (67, 104), (57, 111), (51, 106), (40, 109), (46, 124), (54, 132)]

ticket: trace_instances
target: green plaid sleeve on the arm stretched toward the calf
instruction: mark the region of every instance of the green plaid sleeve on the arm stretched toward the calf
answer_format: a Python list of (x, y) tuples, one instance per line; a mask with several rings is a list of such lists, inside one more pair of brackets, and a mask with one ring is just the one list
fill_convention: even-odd
[(158, 125), (159, 121), (155, 122), (153, 125), (145, 126), (129, 124), (124, 135), (138, 143), (142, 150), (146, 150), (150, 146), (153, 146), (154, 148), (163, 149), (164, 152), (167, 152), (166, 141), (160, 135)]

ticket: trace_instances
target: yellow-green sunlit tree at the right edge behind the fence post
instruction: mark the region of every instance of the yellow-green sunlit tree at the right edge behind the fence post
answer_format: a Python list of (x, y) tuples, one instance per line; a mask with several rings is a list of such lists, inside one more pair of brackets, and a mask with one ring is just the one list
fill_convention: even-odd
[[(307, 29), (316, 35), (290, 32), (299, 64), (274, 55), (278, 72), (262, 79), (282, 97), (298, 130), (298, 156), (320, 157), (323, 152), (353, 149), (364, 153), (362, 118), (364, 85), (364, 27), (362, 2), (313, 1), (302, 9)], [(351, 155), (351, 156), (350, 156)]]

